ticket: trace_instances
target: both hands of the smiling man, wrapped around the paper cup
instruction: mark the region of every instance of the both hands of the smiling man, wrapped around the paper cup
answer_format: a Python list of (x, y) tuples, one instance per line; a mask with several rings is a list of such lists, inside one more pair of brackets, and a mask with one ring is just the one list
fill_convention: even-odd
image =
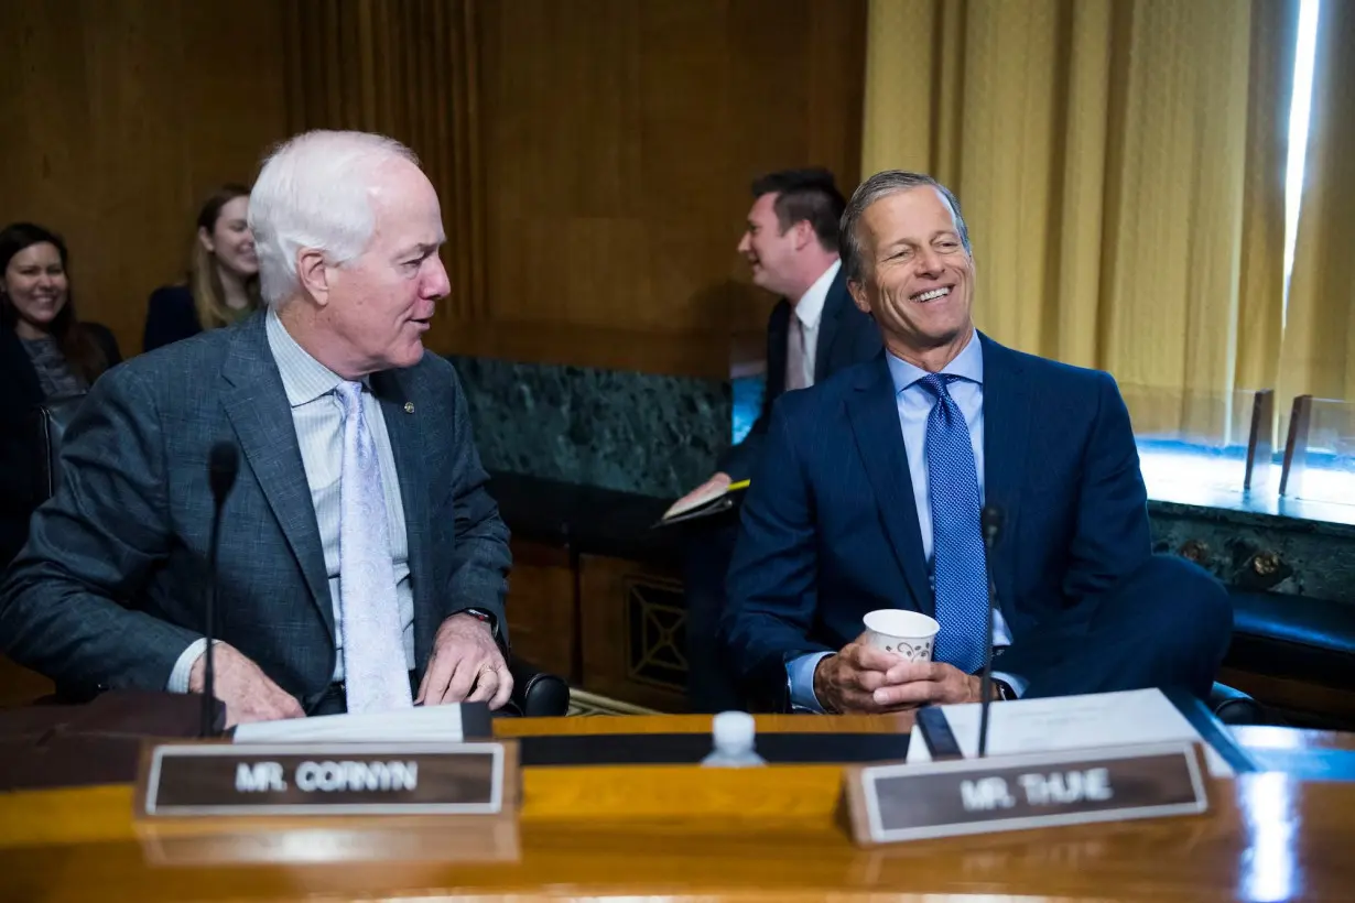
[(848, 643), (814, 669), (814, 696), (829, 712), (878, 713), (932, 703), (977, 703), (980, 681), (951, 665), (909, 662), (867, 646)]

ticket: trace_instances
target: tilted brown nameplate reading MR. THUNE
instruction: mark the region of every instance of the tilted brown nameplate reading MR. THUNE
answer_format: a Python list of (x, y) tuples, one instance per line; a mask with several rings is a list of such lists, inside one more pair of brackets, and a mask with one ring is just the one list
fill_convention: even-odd
[(1031, 753), (847, 772), (859, 843), (1196, 815), (1209, 808), (1192, 743)]

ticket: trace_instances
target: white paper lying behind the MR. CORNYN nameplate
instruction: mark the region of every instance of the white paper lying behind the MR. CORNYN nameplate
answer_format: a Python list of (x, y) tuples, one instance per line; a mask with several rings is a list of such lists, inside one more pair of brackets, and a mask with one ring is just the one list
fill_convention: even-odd
[(459, 705), (416, 705), (397, 712), (320, 715), (236, 727), (236, 743), (408, 743), (465, 739)]

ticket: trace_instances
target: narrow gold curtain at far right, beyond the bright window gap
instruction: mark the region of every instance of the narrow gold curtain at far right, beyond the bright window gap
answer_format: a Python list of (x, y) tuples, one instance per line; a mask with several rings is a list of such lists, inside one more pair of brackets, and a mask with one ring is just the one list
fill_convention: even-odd
[(1355, 402), (1355, 5), (1320, 7), (1280, 398)]

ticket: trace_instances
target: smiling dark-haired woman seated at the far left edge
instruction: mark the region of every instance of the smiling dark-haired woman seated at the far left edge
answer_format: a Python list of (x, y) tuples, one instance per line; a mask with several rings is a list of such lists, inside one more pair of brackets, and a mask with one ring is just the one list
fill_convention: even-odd
[(61, 237), (31, 222), (0, 230), (0, 569), (28, 536), (33, 409), (85, 391), (121, 360), (107, 328), (76, 318)]

